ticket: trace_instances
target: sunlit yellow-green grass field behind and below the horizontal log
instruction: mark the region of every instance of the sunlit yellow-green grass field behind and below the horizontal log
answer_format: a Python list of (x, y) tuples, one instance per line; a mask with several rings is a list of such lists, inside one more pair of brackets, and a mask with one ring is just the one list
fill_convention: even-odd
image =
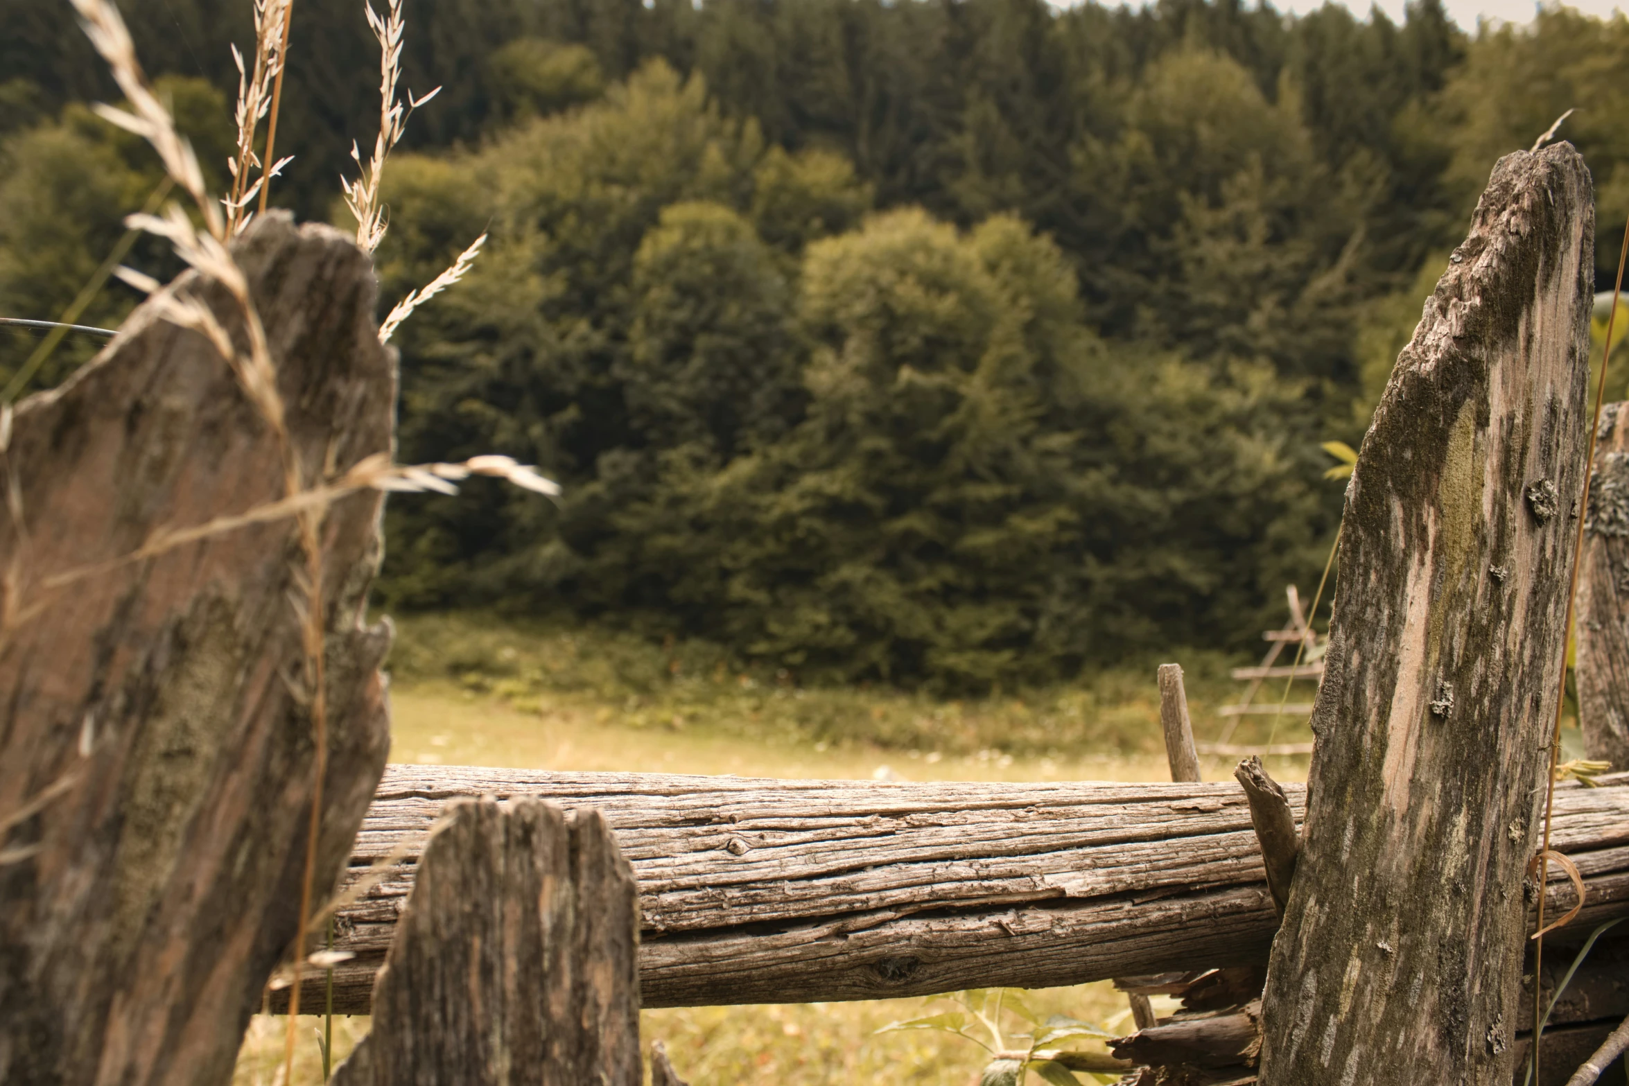
[[(1238, 690), (1225, 681), (1225, 664), (1197, 658), (1191, 666), (1202, 741), (1220, 734), (1225, 721), (1214, 710)], [(801, 690), (709, 646), (464, 615), (401, 624), (391, 671), (393, 762), (743, 777), (1168, 778), (1152, 668), (961, 702), (883, 689)], [(1269, 734), (1310, 739), (1305, 721), (1274, 729), (1262, 720), (1235, 739)], [(1269, 769), (1279, 780), (1303, 780), (1306, 759), (1272, 759)], [(1227, 772), (1223, 759), (1205, 762), (1207, 777)], [(1036, 992), (1030, 1003), (1043, 1016), (1129, 1029), (1124, 998), (1106, 982)], [(647, 1044), (666, 1044), (692, 1086), (974, 1086), (984, 1052), (973, 1042), (930, 1031), (876, 1034), (938, 1009), (942, 1000), (686, 1008), (645, 1011), (642, 1029)], [(288, 1086), (321, 1083), (321, 1026), (319, 1018), (300, 1024)], [(367, 1027), (365, 1018), (336, 1019), (336, 1058)], [(235, 1084), (270, 1086), (282, 1050), (283, 1019), (256, 1018)]]

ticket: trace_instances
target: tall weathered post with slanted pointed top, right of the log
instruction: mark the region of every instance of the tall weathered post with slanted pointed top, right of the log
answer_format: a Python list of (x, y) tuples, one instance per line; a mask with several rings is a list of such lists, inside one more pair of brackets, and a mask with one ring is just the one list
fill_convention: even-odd
[(1347, 487), (1261, 1081), (1510, 1078), (1583, 482), (1593, 194), (1507, 155)]

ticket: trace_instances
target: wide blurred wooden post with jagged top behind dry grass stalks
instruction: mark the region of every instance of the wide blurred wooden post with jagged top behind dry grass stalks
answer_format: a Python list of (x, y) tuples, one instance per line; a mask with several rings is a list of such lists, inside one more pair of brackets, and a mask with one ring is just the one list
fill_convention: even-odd
[[(285, 215), (261, 218), (233, 251), (305, 471), (388, 453), (394, 363), (378, 344), (368, 257)], [(220, 287), (186, 274), (173, 296), (197, 298), (241, 342)], [(23, 518), (0, 528), (7, 1083), (225, 1081), (295, 935), (314, 744), (293, 526), (254, 523), (117, 563), (161, 528), (283, 497), (274, 435), (226, 361), (161, 321), (160, 301), (67, 384), (24, 401), (5, 454)], [(344, 498), (323, 536), (318, 900), (388, 749), (389, 630), (362, 625), (380, 498)], [(101, 563), (52, 591), (50, 578)]]

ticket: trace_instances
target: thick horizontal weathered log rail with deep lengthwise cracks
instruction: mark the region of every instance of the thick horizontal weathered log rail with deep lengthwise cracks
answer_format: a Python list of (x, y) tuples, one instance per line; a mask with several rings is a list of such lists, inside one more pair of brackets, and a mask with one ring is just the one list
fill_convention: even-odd
[[(1572, 931), (1629, 915), (1629, 777), (1562, 785), (1554, 848), (1583, 873)], [(1297, 821), (1305, 790), (1285, 786)], [(872, 783), (393, 765), (345, 884), (334, 1009), (373, 975), (440, 809), (595, 806), (640, 889), (645, 1006), (1039, 988), (1266, 962), (1277, 926), (1245, 793), (1225, 783)], [(399, 853), (383, 873), (370, 868)], [(1574, 902), (1551, 884), (1551, 915)], [(1556, 938), (1556, 936), (1552, 936)], [(301, 1006), (323, 1006), (321, 974)], [(274, 993), (272, 1009), (287, 993)]]

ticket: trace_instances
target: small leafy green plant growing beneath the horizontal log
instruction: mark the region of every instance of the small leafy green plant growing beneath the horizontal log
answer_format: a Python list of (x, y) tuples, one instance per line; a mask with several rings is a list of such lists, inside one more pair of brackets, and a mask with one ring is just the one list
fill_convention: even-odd
[[(1062, 1047), (1082, 1039), (1108, 1039), (1108, 1031), (1065, 1014), (1041, 1019), (1025, 1001), (1023, 988), (974, 988), (935, 998), (953, 1001), (956, 1009), (889, 1023), (876, 1032), (937, 1029), (966, 1037), (990, 1053), (990, 1062), (979, 1076), (979, 1086), (1023, 1086), (1031, 1071), (1052, 1086), (1082, 1086), (1075, 1071), (1090, 1075), (1090, 1081), (1096, 1083), (1113, 1083), (1119, 1078), (1121, 1068), (1111, 1057)], [(1008, 1031), (1003, 1024), (1005, 1016), (1018, 1018), (1023, 1024)], [(989, 1044), (977, 1037), (981, 1029)]]

